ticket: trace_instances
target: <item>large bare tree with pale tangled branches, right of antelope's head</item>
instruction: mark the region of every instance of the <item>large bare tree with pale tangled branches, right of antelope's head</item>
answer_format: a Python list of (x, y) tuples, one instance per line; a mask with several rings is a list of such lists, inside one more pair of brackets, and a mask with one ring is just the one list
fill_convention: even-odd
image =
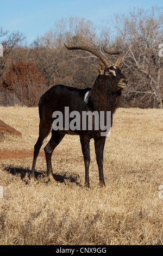
[[(163, 34), (163, 9), (133, 9), (129, 16), (118, 17), (118, 36), (115, 45), (123, 45), (126, 53), (123, 65), (130, 76), (132, 87), (126, 95), (134, 102), (152, 103), (162, 108), (163, 58), (159, 56), (159, 45)], [(120, 39), (121, 38), (121, 39)]]

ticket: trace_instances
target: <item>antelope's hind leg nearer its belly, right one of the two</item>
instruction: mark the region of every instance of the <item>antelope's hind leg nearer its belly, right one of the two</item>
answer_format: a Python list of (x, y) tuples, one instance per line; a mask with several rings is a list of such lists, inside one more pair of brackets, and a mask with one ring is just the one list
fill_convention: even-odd
[(46, 147), (44, 148), (45, 156), (46, 156), (46, 164), (47, 164), (47, 174), (52, 184), (56, 182), (53, 177), (53, 170), (52, 170), (52, 153), (53, 153), (53, 150), (57, 147), (57, 145), (61, 142), (62, 138), (64, 138), (64, 136), (65, 136), (64, 133), (61, 133), (60, 131), (52, 130), (52, 137), (49, 140)]

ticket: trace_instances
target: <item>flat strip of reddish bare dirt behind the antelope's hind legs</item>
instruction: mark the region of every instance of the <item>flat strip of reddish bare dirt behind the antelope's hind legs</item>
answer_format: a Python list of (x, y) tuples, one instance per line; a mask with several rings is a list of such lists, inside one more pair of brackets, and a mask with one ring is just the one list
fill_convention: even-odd
[[(44, 152), (40, 152), (39, 156), (45, 156)], [(0, 160), (4, 159), (23, 159), (27, 157), (33, 157), (33, 151), (9, 151), (0, 150)]]

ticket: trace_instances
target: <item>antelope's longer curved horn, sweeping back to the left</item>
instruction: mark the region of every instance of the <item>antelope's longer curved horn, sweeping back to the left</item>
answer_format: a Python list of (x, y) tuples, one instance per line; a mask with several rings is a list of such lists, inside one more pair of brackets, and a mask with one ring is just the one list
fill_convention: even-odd
[(91, 52), (95, 56), (97, 56), (99, 59), (102, 60), (106, 68), (109, 68), (109, 66), (112, 66), (109, 60), (101, 52), (97, 51), (96, 48), (86, 46), (86, 45), (77, 45), (77, 46), (67, 46), (66, 44), (64, 45), (68, 50), (84, 50), (87, 52)]

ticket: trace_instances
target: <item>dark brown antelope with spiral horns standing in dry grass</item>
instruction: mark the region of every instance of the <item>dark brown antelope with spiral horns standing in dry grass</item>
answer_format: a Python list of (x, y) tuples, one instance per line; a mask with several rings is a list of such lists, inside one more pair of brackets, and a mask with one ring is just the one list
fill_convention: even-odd
[[(95, 83), (92, 88), (77, 89), (72, 87), (67, 87), (63, 85), (57, 85), (50, 88), (45, 94), (43, 94), (39, 101), (39, 115), (40, 115), (40, 125), (39, 125), (39, 138), (34, 146), (34, 157), (32, 172), (30, 174), (30, 183), (34, 182), (35, 174), (35, 164), (36, 159), (39, 154), (40, 148), (45, 142), (47, 136), (52, 132), (52, 137), (47, 143), (45, 150), (46, 163), (47, 163), (47, 174), (49, 180), (55, 183), (52, 172), (52, 153), (55, 147), (61, 142), (65, 134), (79, 135), (80, 143), (82, 145), (82, 152), (84, 156), (85, 163), (85, 185), (90, 186), (89, 182), (89, 166), (90, 166), (90, 139), (93, 138), (95, 141), (95, 152), (96, 159), (99, 170), (99, 184), (100, 186), (105, 186), (104, 175), (103, 175), (103, 151), (105, 145), (105, 136), (101, 136), (101, 129), (89, 130), (86, 128), (82, 129), (62, 129), (54, 130), (52, 129), (52, 124), (54, 121), (53, 113), (59, 111), (65, 112), (65, 107), (68, 107), (70, 112), (78, 111), (81, 115), (82, 112), (111, 112), (111, 125), (112, 125), (112, 115), (114, 114), (118, 104), (120, 103), (122, 96), (122, 89), (128, 84), (126, 78), (121, 73), (118, 66), (123, 58), (123, 53), (121, 51), (108, 51), (104, 48), (104, 51), (108, 54), (119, 54), (114, 65), (112, 65), (109, 60), (97, 51), (96, 48), (90, 46), (67, 46), (68, 50), (84, 50), (88, 51), (99, 59), (102, 63), (99, 63), (99, 75), (96, 78)], [(58, 113), (58, 112), (57, 112)], [(64, 117), (65, 118), (65, 117)], [(56, 120), (56, 119), (55, 119)], [(64, 119), (65, 120), (65, 119)], [(106, 119), (105, 119), (106, 120)], [(64, 124), (63, 124), (64, 126)], [(81, 124), (81, 127), (82, 124)], [(87, 127), (87, 126), (86, 126)]]

